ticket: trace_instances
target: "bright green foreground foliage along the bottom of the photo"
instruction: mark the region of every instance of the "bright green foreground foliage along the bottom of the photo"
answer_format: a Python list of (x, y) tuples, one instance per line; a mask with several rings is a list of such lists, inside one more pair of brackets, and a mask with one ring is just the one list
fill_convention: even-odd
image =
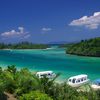
[(0, 100), (4, 93), (13, 94), (18, 100), (100, 100), (100, 91), (80, 91), (66, 83), (56, 83), (44, 77), (39, 79), (28, 69), (17, 70), (15, 66), (0, 67)]

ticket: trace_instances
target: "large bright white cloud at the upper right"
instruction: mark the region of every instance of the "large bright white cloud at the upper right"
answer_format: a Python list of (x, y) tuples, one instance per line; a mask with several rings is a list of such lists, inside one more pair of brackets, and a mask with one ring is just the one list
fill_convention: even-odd
[(70, 26), (85, 26), (89, 29), (97, 29), (100, 25), (100, 12), (95, 12), (92, 16), (83, 16), (80, 19), (73, 20)]

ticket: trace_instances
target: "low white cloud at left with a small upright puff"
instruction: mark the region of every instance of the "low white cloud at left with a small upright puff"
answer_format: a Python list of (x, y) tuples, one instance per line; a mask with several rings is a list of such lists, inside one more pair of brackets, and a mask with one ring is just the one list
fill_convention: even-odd
[(26, 35), (28, 35), (28, 32), (26, 32), (23, 27), (18, 27), (18, 31), (11, 30), (8, 32), (1, 33), (2, 37), (8, 37), (8, 38), (10, 38), (10, 37), (23, 37)]

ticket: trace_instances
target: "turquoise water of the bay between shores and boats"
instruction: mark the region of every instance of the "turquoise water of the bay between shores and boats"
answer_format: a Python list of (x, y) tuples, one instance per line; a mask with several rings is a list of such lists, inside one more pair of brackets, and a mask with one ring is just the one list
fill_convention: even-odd
[(61, 73), (59, 80), (88, 74), (91, 80), (100, 78), (100, 58), (66, 55), (64, 49), (0, 50), (0, 66), (16, 65), (31, 71), (53, 70)]

